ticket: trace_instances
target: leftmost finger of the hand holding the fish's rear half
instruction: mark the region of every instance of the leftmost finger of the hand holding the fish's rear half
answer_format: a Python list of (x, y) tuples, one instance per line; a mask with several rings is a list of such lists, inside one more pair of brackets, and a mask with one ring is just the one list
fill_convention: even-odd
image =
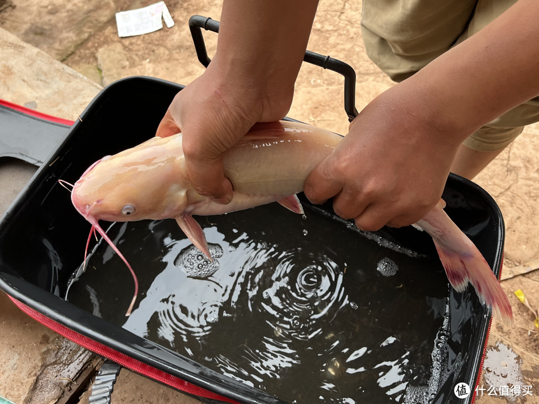
[(335, 178), (331, 162), (331, 155), (323, 160), (307, 177), (303, 184), (303, 193), (315, 205), (326, 202), (329, 198), (341, 192), (343, 184)]

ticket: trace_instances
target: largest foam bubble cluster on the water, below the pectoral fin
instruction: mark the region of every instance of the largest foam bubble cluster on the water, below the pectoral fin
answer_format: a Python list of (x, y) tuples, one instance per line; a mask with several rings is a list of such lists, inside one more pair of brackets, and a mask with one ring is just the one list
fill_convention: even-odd
[(223, 249), (219, 244), (210, 243), (208, 250), (213, 262), (210, 262), (198, 248), (191, 244), (178, 254), (174, 265), (182, 269), (188, 277), (208, 278), (219, 270), (220, 264), (216, 258), (223, 256)]

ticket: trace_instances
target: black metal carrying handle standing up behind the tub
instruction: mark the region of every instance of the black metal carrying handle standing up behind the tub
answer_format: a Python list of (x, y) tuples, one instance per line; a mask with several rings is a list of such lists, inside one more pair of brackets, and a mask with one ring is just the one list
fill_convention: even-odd
[[(189, 18), (189, 30), (195, 44), (198, 60), (204, 67), (208, 67), (211, 59), (208, 57), (208, 51), (206, 50), (206, 44), (202, 36), (202, 29), (219, 33), (219, 22), (203, 16), (192, 16)], [(348, 120), (350, 122), (353, 121), (357, 117), (358, 112), (356, 109), (356, 72), (352, 69), (352, 66), (343, 61), (311, 51), (305, 52), (303, 61), (344, 76), (344, 111), (348, 115)]]

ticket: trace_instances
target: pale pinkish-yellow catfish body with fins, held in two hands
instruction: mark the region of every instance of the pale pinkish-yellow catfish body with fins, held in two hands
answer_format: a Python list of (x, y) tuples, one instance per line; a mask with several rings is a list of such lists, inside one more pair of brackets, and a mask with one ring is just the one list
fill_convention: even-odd
[[(294, 195), (303, 191), (307, 176), (342, 139), (306, 124), (279, 124), (280, 128), (272, 124), (248, 133), (223, 155), (225, 176), (234, 189), (227, 205), (198, 194), (192, 186), (181, 133), (150, 139), (94, 163), (74, 184), (73, 205), (92, 223), (175, 218), (191, 242), (210, 257), (204, 232), (192, 215), (219, 215), (278, 201), (299, 213)], [(134, 207), (134, 213), (122, 214), (125, 206)], [(471, 283), (481, 302), (492, 307), (494, 317), (512, 324), (513, 312), (499, 280), (444, 207), (440, 199), (414, 227), (433, 238), (455, 290), (464, 291)]]

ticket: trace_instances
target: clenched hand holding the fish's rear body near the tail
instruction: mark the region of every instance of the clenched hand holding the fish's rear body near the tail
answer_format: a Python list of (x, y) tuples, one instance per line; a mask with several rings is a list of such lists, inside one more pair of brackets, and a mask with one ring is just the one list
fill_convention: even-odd
[(307, 177), (305, 195), (335, 196), (335, 213), (362, 230), (417, 222), (440, 200), (462, 137), (447, 134), (440, 117), (409, 86), (384, 92)]

